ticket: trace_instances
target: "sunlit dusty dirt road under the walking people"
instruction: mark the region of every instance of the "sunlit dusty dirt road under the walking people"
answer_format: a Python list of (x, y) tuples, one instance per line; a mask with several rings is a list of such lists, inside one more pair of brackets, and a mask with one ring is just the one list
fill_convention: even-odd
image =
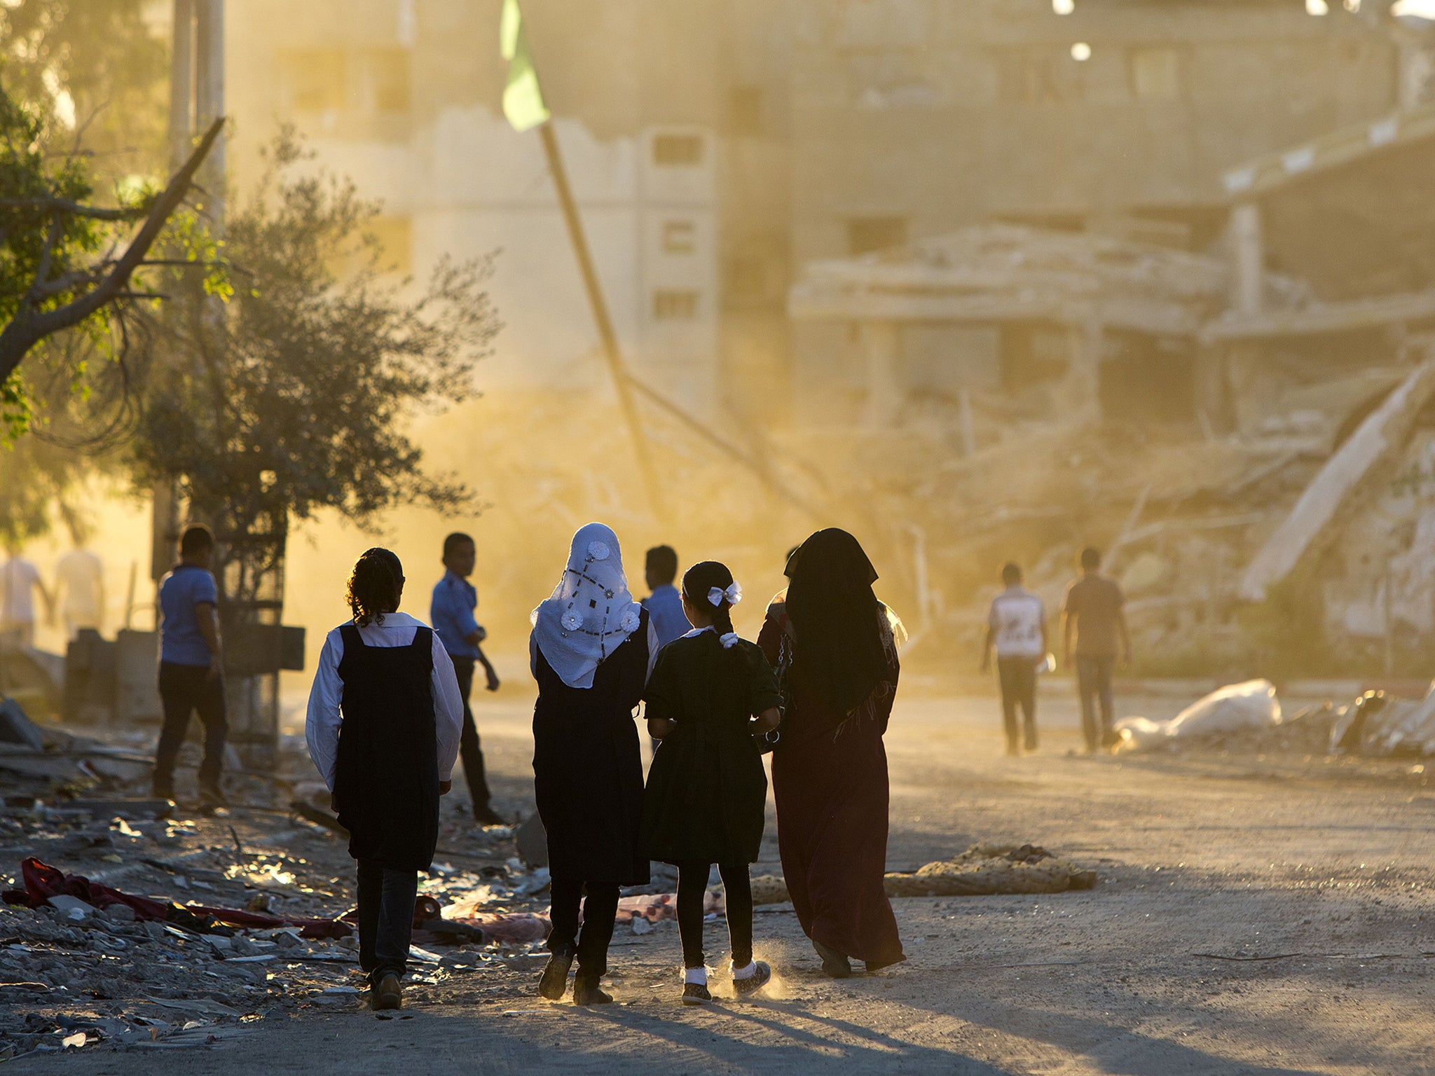
[[(485, 702), (498, 788), (527, 795), (525, 702)], [(1128, 700), (1134, 702), (1134, 700)], [(1004, 759), (983, 699), (898, 703), (888, 864), (1030, 841), (1091, 892), (897, 901), (908, 961), (824, 978), (782, 907), (759, 910), (775, 997), (684, 1010), (676, 928), (620, 934), (621, 1004), (550, 1006), (455, 976), (405, 1019), (357, 1007), (232, 1029), (199, 1050), (86, 1050), (19, 1072), (1415, 1073), (1435, 1072), (1435, 792), (1411, 763), (1086, 759), (1068, 699)], [(1175, 703), (1125, 707), (1168, 716)], [(769, 825), (768, 855), (775, 861)], [(755, 872), (766, 868), (759, 865)], [(709, 963), (725, 951), (709, 925)], [(337, 973), (336, 973), (337, 974)], [(722, 973), (715, 994), (730, 994)]]

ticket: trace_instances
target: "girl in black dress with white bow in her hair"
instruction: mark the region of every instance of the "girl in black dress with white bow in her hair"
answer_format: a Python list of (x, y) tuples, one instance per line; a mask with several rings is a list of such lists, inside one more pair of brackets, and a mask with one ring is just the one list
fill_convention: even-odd
[[(657, 656), (647, 684), (647, 729), (662, 740), (643, 796), (643, 851), (677, 867), (683, 940), (683, 1004), (705, 1004), (703, 895), (722, 872), (732, 941), (732, 986), (755, 994), (772, 970), (752, 958), (752, 887), (768, 778), (755, 736), (778, 727), (782, 696), (768, 659), (732, 630), (742, 590), (716, 561), (683, 575), (683, 613), (693, 626)], [(756, 719), (756, 720), (753, 720)]]

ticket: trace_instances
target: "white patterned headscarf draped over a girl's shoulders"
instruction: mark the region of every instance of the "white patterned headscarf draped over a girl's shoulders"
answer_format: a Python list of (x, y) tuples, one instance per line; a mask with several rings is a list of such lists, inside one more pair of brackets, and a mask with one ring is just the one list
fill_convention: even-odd
[(593, 687), (598, 663), (637, 631), (640, 615), (618, 537), (603, 524), (587, 524), (573, 535), (552, 595), (532, 613), (534, 641), (568, 687)]

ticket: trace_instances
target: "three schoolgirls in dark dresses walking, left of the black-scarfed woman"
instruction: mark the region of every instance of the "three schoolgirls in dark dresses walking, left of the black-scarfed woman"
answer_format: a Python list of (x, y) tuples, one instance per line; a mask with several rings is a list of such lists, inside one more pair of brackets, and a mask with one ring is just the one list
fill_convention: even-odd
[[(660, 648), (649, 611), (629, 591), (617, 537), (588, 524), (532, 614), (534, 786), (552, 922), (538, 993), (550, 1000), (564, 997), (574, 964), (574, 1003), (613, 1000), (600, 980), (618, 894), (649, 882), (651, 859), (679, 871), (683, 1004), (712, 1000), (703, 900), (713, 865), (733, 993), (755, 994), (772, 977), (752, 954), (748, 865), (762, 842), (762, 752), (778, 735), (781, 693), (763, 653), (733, 631), (742, 591), (732, 572), (705, 561), (682, 584), (692, 630)], [(357, 861), (359, 957), (376, 1009), (402, 1004), (418, 871), (433, 858), (439, 796), (464, 727), (453, 666), (432, 628), (397, 611), (402, 593), (395, 554), (360, 557), (349, 587), (353, 618), (324, 643), (307, 727)], [(646, 789), (639, 702), (659, 745)]]

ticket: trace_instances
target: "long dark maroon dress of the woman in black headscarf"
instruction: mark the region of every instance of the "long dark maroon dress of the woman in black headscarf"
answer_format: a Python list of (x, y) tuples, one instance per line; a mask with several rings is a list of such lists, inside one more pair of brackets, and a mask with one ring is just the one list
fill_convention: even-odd
[[(773, 666), (785, 631), (786, 615), (775, 605), (758, 638)], [(888, 680), (845, 722), (795, 683), (772, 753), (778, 851), (798, 922), (814, 941), (871, 964), (905, 960), (883, 885), (890, 796), (883, 733), (897, 687), (895, 651), (888, 661)]]

